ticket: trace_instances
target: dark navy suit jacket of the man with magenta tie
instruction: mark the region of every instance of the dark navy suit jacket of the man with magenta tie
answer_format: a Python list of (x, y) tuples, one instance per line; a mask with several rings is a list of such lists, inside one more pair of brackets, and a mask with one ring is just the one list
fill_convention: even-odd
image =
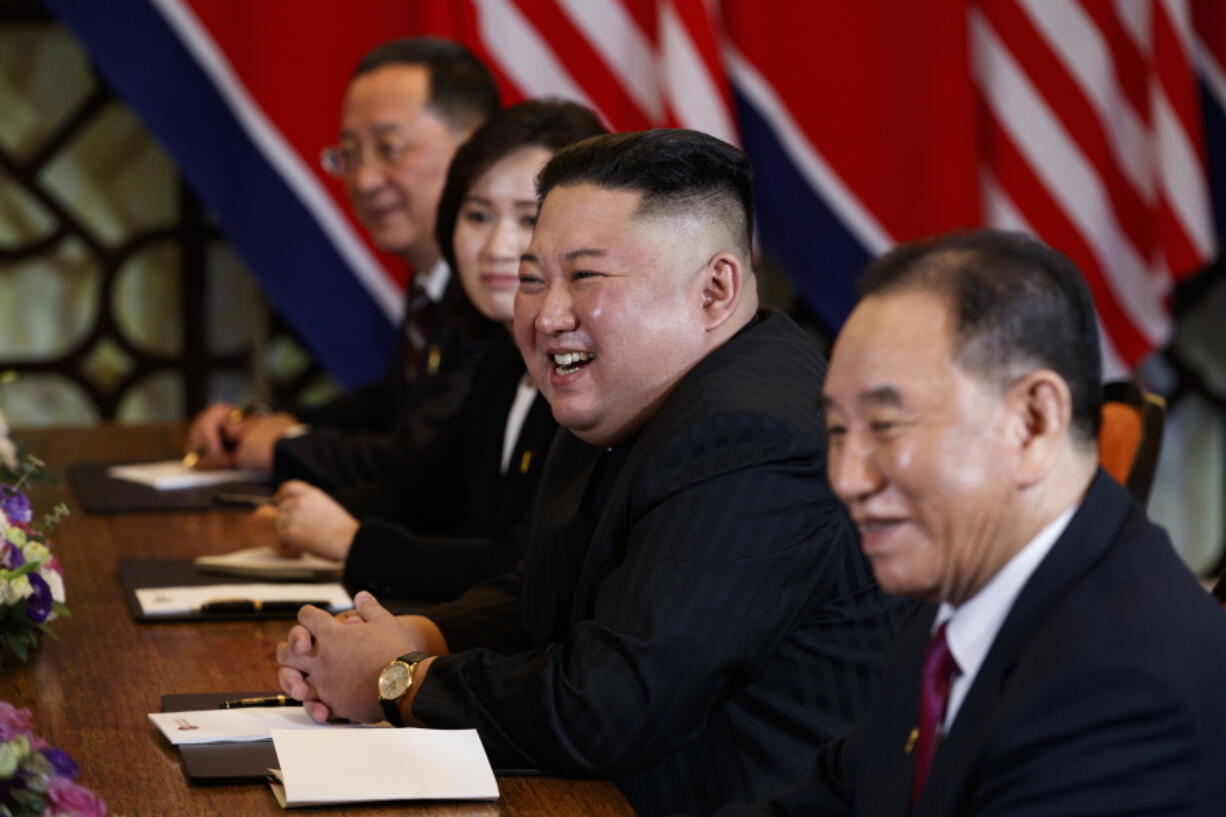
[(1226, 813), (1226, 615), (1102, 471), (1030, 578), (910, 807), (932, 605), (899, 637), (872, 712), (769, 806), (727, 813)]

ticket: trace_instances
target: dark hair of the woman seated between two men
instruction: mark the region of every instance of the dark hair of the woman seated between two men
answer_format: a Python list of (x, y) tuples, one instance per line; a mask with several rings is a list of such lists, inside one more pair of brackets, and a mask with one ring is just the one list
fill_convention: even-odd
[(520, 148), (558, 151), (603, 132), (604, 125), (591, 109), (562, 99), (521, 102), (498, 112), (473, 131), (451, 159), (434, 221), (434, 238), (451, 269), (456, 270), (454, 239), (460, 207), (482, 173)]

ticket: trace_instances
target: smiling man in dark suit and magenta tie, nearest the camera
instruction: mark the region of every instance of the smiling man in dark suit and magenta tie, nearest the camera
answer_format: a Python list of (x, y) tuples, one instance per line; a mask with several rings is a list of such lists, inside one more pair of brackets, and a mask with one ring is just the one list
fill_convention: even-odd
[(817, 775), (727, 815), (1226, 813), (1226, 616), (1097, 467), (1076, 269), (983, 232), (900, 248), (863, 291), (830, 480), (881, 586), (931, 604)]

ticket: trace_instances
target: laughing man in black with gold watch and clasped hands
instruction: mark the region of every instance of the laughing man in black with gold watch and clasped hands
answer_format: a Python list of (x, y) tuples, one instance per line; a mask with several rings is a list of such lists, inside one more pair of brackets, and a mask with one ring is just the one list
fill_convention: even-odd
[(741, 151), (600, 136), (538, 184), (515, 330), (563, 431), (521, 569), (429, 619), (306, 607), (282, 685), (316, 718), (476, 727), (495, 765), (613, 778), (644, 815), (765, 796), (895, 629), (824, 478), (823, 362), (758, 309)]

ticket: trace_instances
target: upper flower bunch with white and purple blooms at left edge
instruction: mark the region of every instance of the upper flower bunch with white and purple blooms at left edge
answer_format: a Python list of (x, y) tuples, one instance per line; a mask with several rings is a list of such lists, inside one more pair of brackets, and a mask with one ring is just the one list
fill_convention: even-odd
[[(9, 380), (7, 373), (0, 375), (0, 384)], [(10, 653), (29, 660), (39, 634), (55, 637), (49, 623), (69, 616), (64, 572), (47, 537), (69, 509), (60, 503), (34, 525), (33, 509), (23, 493), (43, 466), (33, 454), (18, 451), (0, 412), (0, 669)]]

